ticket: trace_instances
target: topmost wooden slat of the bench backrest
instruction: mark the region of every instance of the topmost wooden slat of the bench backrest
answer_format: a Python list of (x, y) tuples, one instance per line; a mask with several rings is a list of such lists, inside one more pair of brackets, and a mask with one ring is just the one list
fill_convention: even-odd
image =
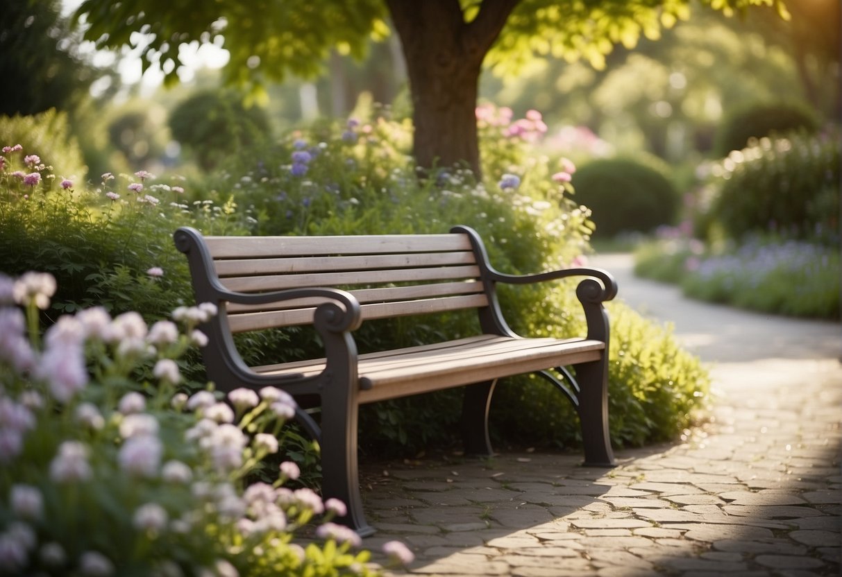
[(216, 258), (354, 255), (389, 252), (470, 251), (465, 235), (205, 236)]

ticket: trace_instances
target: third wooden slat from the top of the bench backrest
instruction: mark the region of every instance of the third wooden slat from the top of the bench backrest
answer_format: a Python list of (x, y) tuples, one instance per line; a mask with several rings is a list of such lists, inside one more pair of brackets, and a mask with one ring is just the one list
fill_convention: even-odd
[(283, 277), (232, 277), (222, 278), (221, 283), (229, 290), (242, 293), (259, 293), (282, 289), (304, 287), (342, 287), (384, 283), (423, 282), (452, 278), (477, 278), (479, 267), (434, 267), (390, 269), (350, 273), (305, 273)]

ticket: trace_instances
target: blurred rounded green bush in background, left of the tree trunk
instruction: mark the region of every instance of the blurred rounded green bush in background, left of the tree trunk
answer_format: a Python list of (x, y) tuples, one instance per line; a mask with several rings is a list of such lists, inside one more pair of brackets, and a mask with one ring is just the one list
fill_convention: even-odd
[(243, 106), (242, 94), (205, 90), (179, 103), (169, 116), (173, 138), (208, 170), (232, 149), (258, 148), (271, 134), (264, 109)]

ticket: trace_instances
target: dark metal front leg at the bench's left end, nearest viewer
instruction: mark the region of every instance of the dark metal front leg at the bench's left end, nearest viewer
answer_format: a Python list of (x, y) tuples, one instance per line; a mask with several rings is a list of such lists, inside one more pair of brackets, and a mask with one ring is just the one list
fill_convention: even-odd
[(322, 498), (338, 499), (348, 514), (338, 522), (354, 529), (360, 537), (375, 532), (365, 521), (357, 468), (357, 405), (347, 390), (339, 387), (322, 397)]

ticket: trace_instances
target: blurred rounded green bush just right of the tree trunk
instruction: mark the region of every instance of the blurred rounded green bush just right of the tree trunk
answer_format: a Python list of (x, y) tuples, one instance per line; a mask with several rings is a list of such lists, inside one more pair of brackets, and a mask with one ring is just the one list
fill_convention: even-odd
[(602, 158), (573, 175), (575, 199), (593, 211), (594, 236), (648, 232), (672, 224), (679, 194), (655, 160)]

